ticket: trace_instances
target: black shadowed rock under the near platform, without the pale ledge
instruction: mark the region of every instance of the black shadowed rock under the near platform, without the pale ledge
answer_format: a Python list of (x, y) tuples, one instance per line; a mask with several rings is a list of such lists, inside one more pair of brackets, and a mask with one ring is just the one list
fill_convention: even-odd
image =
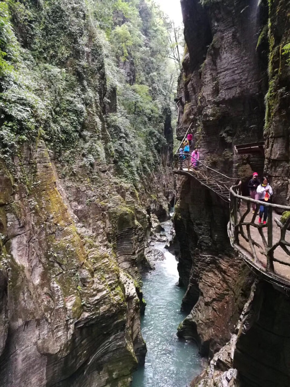
[(290, 384), (290, 299), (261, 281), (234, 352), (241, 387)]

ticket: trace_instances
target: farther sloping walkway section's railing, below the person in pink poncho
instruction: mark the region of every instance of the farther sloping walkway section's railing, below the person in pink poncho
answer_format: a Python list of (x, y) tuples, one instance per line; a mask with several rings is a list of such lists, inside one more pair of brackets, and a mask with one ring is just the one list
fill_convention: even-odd
[[(174, 155), (175, 159), (175, 173), (188, 172), (194, 176), (201, 184), (213, 190), (216, 194), (223, 197), (223, 199), (229, 200), (230, 187), (239, 181), (237, 178), (232, 178), (224, 175), (223, 173), (210, 168), (202, 161), (192, 157), (191, 154), (186, 154), (187, 158), (180, 160), (179, 156), (184, 156), (177, 151)], [(194, 167), (195, 161), (198, 161), (198, 167)]]

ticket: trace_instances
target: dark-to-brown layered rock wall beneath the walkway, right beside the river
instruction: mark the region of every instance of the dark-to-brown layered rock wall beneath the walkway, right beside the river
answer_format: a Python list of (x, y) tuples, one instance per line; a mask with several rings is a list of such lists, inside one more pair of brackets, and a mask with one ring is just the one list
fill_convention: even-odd
[(193, 179), (184, 180), (174, 227), (180, 244), (179, 285), (189, 312), (178, 335), (193, 339), (212, 358), (229, 341), (253, 277), (231, 250), (228, 204)]

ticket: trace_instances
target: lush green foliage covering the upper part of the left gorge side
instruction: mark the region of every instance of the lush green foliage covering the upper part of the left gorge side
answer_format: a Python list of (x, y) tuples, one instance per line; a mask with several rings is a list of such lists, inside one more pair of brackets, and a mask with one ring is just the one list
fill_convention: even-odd
[(177, 72), (151, 0), (0, 2), (1, 158), (44, 139), (58, 159), (113, 162), (137, 182), (159, 165)]

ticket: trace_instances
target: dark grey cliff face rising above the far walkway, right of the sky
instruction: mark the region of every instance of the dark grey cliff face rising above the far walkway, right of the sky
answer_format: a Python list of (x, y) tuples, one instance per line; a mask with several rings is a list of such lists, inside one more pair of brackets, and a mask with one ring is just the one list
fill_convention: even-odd
[(266, 65), (256, 51), (263, 15), (258, 1), (204, 3), (181, 1), (183, 123), (194, 123), (208, 164), (246, 177), (251, 168), (263, 171), (262, 156), (234, 152), (237, 144), (263, 140)]

